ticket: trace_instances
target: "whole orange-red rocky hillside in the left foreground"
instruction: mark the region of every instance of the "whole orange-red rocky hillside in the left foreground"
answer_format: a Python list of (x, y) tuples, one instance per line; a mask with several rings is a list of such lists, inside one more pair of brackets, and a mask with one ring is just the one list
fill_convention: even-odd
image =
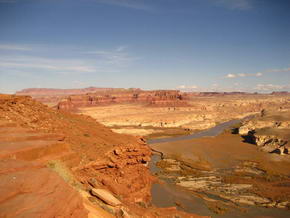
[(0, 144), (0, 217), (199, 217), (152, 206), (144, 140), (88, 116), (0, 95)]

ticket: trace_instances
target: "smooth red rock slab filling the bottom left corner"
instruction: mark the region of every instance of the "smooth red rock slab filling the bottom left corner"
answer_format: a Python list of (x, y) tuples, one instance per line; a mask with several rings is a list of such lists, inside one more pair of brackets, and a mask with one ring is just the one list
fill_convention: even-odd
[(88, 216), (78, 192), (39, 164), (1, 160), (0, 181), (0, 217)]

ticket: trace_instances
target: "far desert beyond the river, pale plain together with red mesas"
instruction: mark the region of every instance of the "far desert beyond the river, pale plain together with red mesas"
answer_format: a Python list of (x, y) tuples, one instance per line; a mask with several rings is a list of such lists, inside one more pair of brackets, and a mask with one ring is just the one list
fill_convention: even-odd
[(253, 94), (93, 87), (16, 92), (16, 95), (25, 94), (61, 111), (89, 115), (115, 132), (148, 138), (190, 134), (263, 109), (289, 108), (287, 92)]

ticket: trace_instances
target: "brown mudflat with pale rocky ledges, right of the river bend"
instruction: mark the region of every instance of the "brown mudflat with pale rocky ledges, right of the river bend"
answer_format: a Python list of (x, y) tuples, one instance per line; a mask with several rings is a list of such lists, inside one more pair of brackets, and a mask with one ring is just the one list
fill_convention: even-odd
[[(213, 212), (224, 216), (244, 211), (244, 216), (255, 217), (253, 206), (289, 210), (289, 117), (289, 111), (263, 111), (216, 136), (152, 140), (151, 148), (161, 154), (157, 175), (203, 198)], [(275, 213), (274, 217), (289, 216)]]

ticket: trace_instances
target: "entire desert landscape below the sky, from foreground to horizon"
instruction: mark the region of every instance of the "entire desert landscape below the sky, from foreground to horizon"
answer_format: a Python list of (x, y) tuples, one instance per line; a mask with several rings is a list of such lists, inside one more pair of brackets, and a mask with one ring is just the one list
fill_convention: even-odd
[[(69, 95), (55, 106), (42, 100), (1, 96), (3, 216), (31, 215), (21, 207), (34, 201), (47, 205), (31, 207), (36, 213), (72, 217), (257, 217), (259, 208), (288, 216), (288, 94), (137, 89)], [(55, 179), (25, 179), (38, 174)], [(25, 197), (4, 192), (8, 185), (26, 187), (31, 201), (8, 210)], [(49, 204), (53, 187), (63, 188), (52, 198), (74, 202), (67, 211)]]

